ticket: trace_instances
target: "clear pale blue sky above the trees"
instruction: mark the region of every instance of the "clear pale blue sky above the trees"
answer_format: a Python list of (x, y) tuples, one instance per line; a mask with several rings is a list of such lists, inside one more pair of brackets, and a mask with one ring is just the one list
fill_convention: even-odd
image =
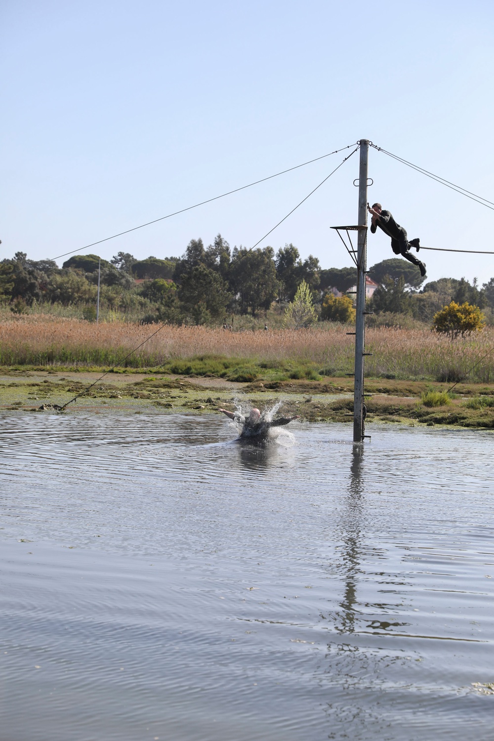
[[(371, 139), (494, 202), (494, 4), (3, 0), (1, 256), (57, 256)], [(93, 247), (252, 246), (335, 155)], [(358, 156), (261, 244), (348, 265)], [(423, 245), (494, 251), (494, 212), (371, 150), (370, 202)], [(84, 251), (81, 249), (81, 252)], [(429, 279), (485, 282), (494, 256), (421, 253)], [(370, 235), (368, 264), (393, 257)], [(63, 260), (59, 260), (61, 264)]]

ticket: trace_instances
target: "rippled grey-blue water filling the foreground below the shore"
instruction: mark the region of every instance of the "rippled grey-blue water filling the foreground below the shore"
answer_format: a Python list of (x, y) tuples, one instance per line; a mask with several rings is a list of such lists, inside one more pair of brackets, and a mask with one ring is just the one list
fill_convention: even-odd
[(0, 425), (1, 741), (493, 740), (492, 433)]

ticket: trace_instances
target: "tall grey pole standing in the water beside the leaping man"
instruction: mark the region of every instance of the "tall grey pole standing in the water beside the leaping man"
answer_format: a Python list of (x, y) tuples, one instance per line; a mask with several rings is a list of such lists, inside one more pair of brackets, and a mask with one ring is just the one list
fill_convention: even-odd
[(355, 390), (353, 396), (353, 442), (364, 439), (365, 283), (367, 276), (367, 160), (369, 142), (360, 142), (358, 173), (357, 316), (355, 325)]

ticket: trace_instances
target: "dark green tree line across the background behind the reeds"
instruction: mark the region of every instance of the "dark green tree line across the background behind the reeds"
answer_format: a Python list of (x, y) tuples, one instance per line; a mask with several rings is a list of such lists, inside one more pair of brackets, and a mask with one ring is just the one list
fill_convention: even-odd
[[(99, 257), (93, 254), (70, 257), (59, 268), (18, 252), (0, 262), (0, 300), (16, 313), (34, 305), (79, 306), (93, 319), (98, 270)], [(494, 310), (494, 279), (482, 286), (464, 278), (424, 283), (418, 268), (403, 259), (378, 262), (368, 275), (378, 283), (370, 300), (378, 314), (430, 322), (451, 301)], [(273, 302), (290, 305), (302, 284), (316, 319), (353, 319), (353, 301), (345, 294), (356, 284), (356, 268), (321, 268), (312, 255), (301, 259), (292, 244), (276, 253), (273, 247), (231, 249), (218, 234), (207, 247), (192, 239), (181, 257), (138, 260), (119, 252), (110, 261), (101, 259), (101, 305), (133, 312), (144, 322), (218, 323), (230, 313), (256, 317)]]

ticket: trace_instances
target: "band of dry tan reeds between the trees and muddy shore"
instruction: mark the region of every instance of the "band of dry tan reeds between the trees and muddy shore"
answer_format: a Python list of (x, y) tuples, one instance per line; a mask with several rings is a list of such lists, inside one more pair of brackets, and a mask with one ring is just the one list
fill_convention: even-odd
[[(353, 372), (354, 337), (344, 325), (313, 330), (231, 332), (207, 327), (167, 326), (151, 337), (156, 325), (80, 319), (19, 316), (0, 321), (0, 365), (127, 365), (154, 368), (170, 361), (209, 358), (238, 359), (262, 368), (290, 363), (326, 376)], [(473, 339), (452, 341), (430, 330), (373, 328), (367, 330), (366, 375), (398, 379), (477, 382), (494, 380), (494, 328)], [(493, 350), (486, 358), (486, 353)], [(476, 367), (474, 368), (476, 364)]]

